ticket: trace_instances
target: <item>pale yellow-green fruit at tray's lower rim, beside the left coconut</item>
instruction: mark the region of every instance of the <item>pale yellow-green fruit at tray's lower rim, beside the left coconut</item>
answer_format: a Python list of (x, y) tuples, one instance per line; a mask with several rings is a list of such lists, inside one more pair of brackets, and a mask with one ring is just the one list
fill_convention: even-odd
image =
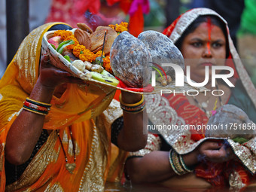
[(98, 73), (98, 72), (90, 72), (90, 73), (92, 75), (92, 78), (97, 81), (101, 81), (103, 83), (111, 84), (114, 86), (117, 86), (117, 84), (119, 84), (119, 81), (116, 78), (114, 78), (113, 75), (111, 75), (105, 70), (103, 70), (102, 73)]

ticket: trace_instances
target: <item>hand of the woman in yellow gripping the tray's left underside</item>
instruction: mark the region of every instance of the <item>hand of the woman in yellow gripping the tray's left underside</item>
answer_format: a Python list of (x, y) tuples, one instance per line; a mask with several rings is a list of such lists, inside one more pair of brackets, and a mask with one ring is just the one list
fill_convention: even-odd
[(59, 84), (85, 84), (80, 78), (73, 77), (69, 72), (58, 69), (51, 63), (56, 62), (52, 56), (42, 56), (40, 62), (39, 78), (41, 85), (49, 89), (54, 89)]

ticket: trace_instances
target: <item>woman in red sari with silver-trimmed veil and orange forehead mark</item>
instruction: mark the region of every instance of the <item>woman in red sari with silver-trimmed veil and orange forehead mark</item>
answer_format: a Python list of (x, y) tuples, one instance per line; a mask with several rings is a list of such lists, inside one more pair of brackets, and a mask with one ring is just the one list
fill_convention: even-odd
[[(169, 94), (148, 96), (148, 116), (154, 125), (206, 125), (214, 108), (233, 104), (242, 108), (256, 122), (256, 90), (230, 39), (226, 21), (215, 11), (196, 8), (187, 11), (163, 32), (181, 50), (190, 78), (205, 80), (209, 66), (209, 92), (197, 96)], [(229, 78), (235, 87), (224, 82), (211, 84), (212, 66), (230, 66)], [(217, 74), (220, 72), (217, 72)], [(221, 96), (217, 90), (224, 92)], [(214, 94), (211, 92), (214, 91)], [(148, 136), (148, 145), (130, 154), (126, 173), (137, 183), (162, 182), (172, 187), (244, 187), (256, 172), (256, 137), (239, 144), (232, 139), (207, 139), (192, 130), (157, 130)], [(225, 170), (225, 171), (224, 171)], [(183, 179), (182, 179), (183, 178)], [(202, 179), (203, 178), (203, 179)]]

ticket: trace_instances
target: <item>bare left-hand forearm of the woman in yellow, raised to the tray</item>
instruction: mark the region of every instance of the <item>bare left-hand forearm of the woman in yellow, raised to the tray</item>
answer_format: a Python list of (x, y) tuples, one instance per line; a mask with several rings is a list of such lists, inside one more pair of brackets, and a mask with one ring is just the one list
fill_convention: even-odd
[[(54, 89), (41, 86), (37, 81), (29, 98), (38, 102), (50, 103)], [(23, 110), (8, 131), (5, 157), (13, 164), (22, 164), (32, 154), (44, 125), (44, 115)]]

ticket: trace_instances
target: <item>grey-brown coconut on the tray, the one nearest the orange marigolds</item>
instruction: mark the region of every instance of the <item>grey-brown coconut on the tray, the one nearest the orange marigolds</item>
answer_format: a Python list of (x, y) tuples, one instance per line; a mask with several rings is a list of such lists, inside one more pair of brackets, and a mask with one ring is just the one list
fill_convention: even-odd
[(128, 87), (145, 87), (151, 79), (151, 55), (145, 44), (129, 32), (115, 38), (110, 51), (114, 75)]

